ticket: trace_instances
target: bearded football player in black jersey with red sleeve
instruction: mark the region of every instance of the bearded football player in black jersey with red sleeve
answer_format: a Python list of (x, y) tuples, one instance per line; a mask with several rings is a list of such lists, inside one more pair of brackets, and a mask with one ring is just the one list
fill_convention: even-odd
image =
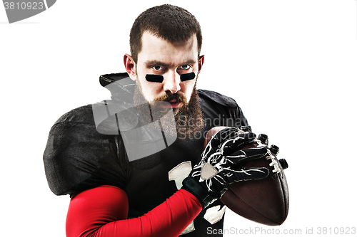
[[(219, 199), (228, 185), (268, 175), (239, 168), (266, 148), (240, 151), (255, 135), (238, 129), (248, 122), (236, 101), (196, 89), (201, 44), (185, 9), (144, 11), (131, 28), (126, 73), (100, 77), (111, 100), (71, 110), (51, 127), (44, 167), (51, 191), (71, 197), (68, 237), (214, 236), (207, 230), (223, 228)], [(232, 128), (203, 150), (216, 126)]]

